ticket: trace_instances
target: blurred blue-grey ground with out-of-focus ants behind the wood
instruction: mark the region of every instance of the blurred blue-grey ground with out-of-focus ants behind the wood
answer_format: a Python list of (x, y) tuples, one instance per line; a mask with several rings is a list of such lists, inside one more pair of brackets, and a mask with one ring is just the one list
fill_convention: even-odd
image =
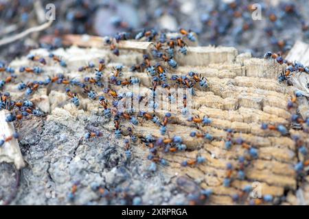
[[(44, 23), (45, 5), (54, 3), (51, 27), (0, 47), (0, 60), (10, 61), (30, 49), (62, 47), (62, 34), (113, 36), (142, 29), (198, 34), (200, 45), (232, 46), (262, 56), (288, 51), (296, 40), (309, 41), (308, 0), (0, 0), (0, 39)], [(251, 5), (258, 3), (262, 19), (254, 21)], [(42, 36), (56, 36), (51, 43)]]

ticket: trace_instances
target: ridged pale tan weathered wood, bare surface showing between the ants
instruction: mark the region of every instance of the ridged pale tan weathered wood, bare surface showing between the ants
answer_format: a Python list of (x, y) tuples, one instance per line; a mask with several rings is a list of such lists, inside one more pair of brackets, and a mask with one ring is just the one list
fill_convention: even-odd
[[(94, 41), (95, 43), (91, 45), (102, 45), (101, 38), (95, 38)], [(82, 42), (79, 45), (82, 45)], [(128, 68), (132, 64), (141, 62), (143, 50), (148, 46), (149, 44), (141, 44), (141, 46), (138, 46), (141, 51), (127, 51), (121, 53), (119, 57), (111, 55), (109, 49), (79, 49), (76, 47), (66, 51), (60, 49), (55, 53), (61, 54), (70, 65), (66, 69), (56, 66), (56, 69), (70, 78), (92, 77), (93, 71), (78, 73), (78, 66), (80, 66), (83, 58), (97, 62), (98, 58), (101, 57), (106, 60), (106, 70), (104, 70), (106, 77), (111, 74), (113, 66), (124, 64), (122, 78), (128, 79), (132, 75), (139, 77), (141, 79), (141, 90), (146, 91), (151, 85), (146, 73), (130, 73)], [(128, 50), (130, 47), (124, 46)], [(43, 50), (32, 51), (32, 53), (47, 56), (46, 51)], [(78, 54), (87, 55), (76, 57)], [(126, 63), (123, 63), (122, 60), (126, 60)], [(130, 62), (127, 60), (130, 60)], [(245, 185), (251, 185), (253, 181), (260, 183), (263, 195), (271, 194), (277, 199), (284, 196), (286, 190), (294, 191), (297, 188), (297, 175), (293, 169), (297, 163), (297, 149), (295, 149), (293, 140), (282, 137), (278, 131), (265, 131), (260, 128), (262, 123), (281, 124), (286, 127), (290, 125), (290, 112), (286, 110), (286, 105), (294, 95), (294, 88), (277, 81), (277, 75), (282, 73), (284, 66), (251, 58), (248, 54), (237, 55), (236, 49), (225, 47), (188, 48), (187, 57), (179, 56), (177, 61), (179, 61), (180, 66), (176, 70), (169, 68), (169, 76), (171, 74), (186, 75), (194, 70), (209, 80), (209, 88), (197, 88), (196, 96), (193, 96), (192, 99), (192, 114), (199, 115), (201, 118), (204, 115), (209, 116), (212, 123), (200, 127), (201, 130), (198, 130), (181, 114), (172, 113), (170, 124), (167, 125), (169, 135), (181, 136), (187, 144), (187, 149), (190, 150), (164, 155), (169, 166), (159, 166), (158, 171), (167, 176), (175, 176), (175, 174), (187, 176), (201, 182), (202, 188), (211, 188), (214, 190), (211, 204), (232, 204), (231, 196), (242, 190)], [(25, 58), (12, 62), (12, 66), (20, 66), (21, 64), (33, 65)], [(188, 64), (192, 66), (188, 66)], [(42, 77), (52, 76), (54, 73), (55, 64), (47, 59), (47, 66), (45, 66), (45, 73)], [(32, 76), (27, 75), (27, 77)], [(17, 78), (16, 83), (23, 79), (23, 76)], [(16, 86), (9, 89), (12, 91), (12, 96), (19, 95), (16, 92)], [(102, 88), (93, 87), (93, 89), (99, 95), (102, 94)], [(126, 92), (130, 89), (119, 86), (116, 90), (117, 92)], [(46, 94), (49, 97), (49, 110), (52, 114), (49, 118), (58, 118), (59, 123), (67, 123), (67, 117), (81, 116), (82, 114), (89, 116), (93, 112), (98, 112), (98, 101), (90, 101), (87, 96), (79, 96), (81, 107), (76, 108), (67, 101), (63, 92), (53, 90)], [(39, 101), (37, 98), (36, 100)], [(60, 110), (60, 108), (64, 110)], [(163, 113), (158, 113), (160, 118), (163, 115)], [(61, 119), (62, 117), (64, 119)], [(141, 123), (141, 120), (139, 122)], [(131, 126), (126, 121), (122, 122), (122, 125)], [(104, 125), (104, 128), (108, 131), (111, 131), (113, 127), (113, 121)], [(235, 138), (243, 138), (249, 144), (255, 146), (259, 153), (258, 159), (253, 160), (246, 168), (246, 179), (243, 181), (235, 179), (231, 183), (231, 188), (225, 188), (222, 185), (226, 175), (225, 166), (228, 162), (236, 165), (238, 156), (242, 155), (244, 149), (237, 145), (233, 146), (231, 150), (225, 149), (224, 144), (227, 135), (225, 130), (228, 128), (236, 131)], [(123, 131), (124, 135), (128, 134), (125, 128)], [(207, 140), (192, 138), (190, 137), (191, 131), (210, 133), (214, 136), (214, 141), (208, 142)], [(289, 129), (289, 131), (292, 131), (292, 129)], [(144, 120), (142, 125), (136, 126), (135, 133), (139, 137), (145, 137), (148, 134), (162, 137), (159, 127), (150, 120)], [(168, 136), (164, 136), (164, 138), (168, 138)], [(304, 140), (308, 141), (308, 136), (304, 136)], [(119, 144), (122, 144), (122, 142)], [(146, 158), (148, 149), (143, 144), (134, 146), (133, 153), (139, 159), (148, 162)], [(207, 162), (194, 168), (181, 166), (181, 162), (186, 159), (194, 159), (197, 154), (203, 155)], [(306, 200), (308, 200), (308, 190), (308, 185), (306, 185), (304, 187)], [(288, 197), (284, 204), (297, 203), (298, 197), (295, 193), (289, 194)]]

